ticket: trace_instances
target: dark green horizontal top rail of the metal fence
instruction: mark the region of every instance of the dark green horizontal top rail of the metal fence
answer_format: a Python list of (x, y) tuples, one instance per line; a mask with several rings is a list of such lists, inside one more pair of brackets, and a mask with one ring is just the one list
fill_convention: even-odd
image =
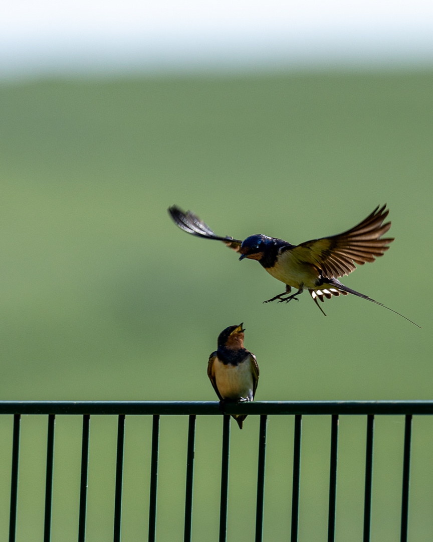
[(433, 414), (433, 401), (0, 401), (0, 414)]

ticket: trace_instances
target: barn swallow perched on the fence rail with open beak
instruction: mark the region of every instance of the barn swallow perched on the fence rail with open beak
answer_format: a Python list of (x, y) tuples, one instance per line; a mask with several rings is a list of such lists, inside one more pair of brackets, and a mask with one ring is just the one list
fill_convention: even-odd
[[(259, 381), (259, 366), (254, 354), (244, 348), (242, 324), (226, 327), (218, 337), (218, 350), (212, 352), (207, 364), (207, 376), (224, 403), (253, 401)], [(242, 429), (246, 414), (233, 414)]]

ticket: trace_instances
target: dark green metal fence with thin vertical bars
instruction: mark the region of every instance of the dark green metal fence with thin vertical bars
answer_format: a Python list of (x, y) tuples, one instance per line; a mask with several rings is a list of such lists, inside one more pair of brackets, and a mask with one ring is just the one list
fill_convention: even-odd
[[(150, 466), (149, 493), (149, 530), (148, 540), (156, 538), (156, 511), (158, 492), (158, 459), (160, 416), (179, 415), (189, 416), (187, 469), (185, 494), (185, 528), (184, 540), (192, 540), (193, 518), (193, 478), (196, 416), (221, 416), (218, 402), (18, 402), (0, 401), (0, 414), (14, 416), (12, 436), (12, 469), (10, 492), (9, 542), (16, 541), (17, 503), (18, 503), (18, 472), (19, 472), (19, 441), (22, 415), (48, 415), (47, 468), (45, 479), (45, 508), (44, 508), (44, 542), (51, 540), (51, 509), (53, 504), (53, 464), (55, 441), (56, 415), (81, 415), (82, 448), (81, 448), (81, 481), (80, 504), (78, 519), (78, 542), (86, 540), (87, 485), (89, 464), (89, 434), (91, 415), (116, 415), (117, 451), (114, 498), (114, 542), (121, 540), (122, 520), (122, 482), (125, 418), (127, 415), (153, 416), (152, 456)], [(221, 464), (221, 496), (219, 540), (227, 540), (228, 517), (228, 480), (229, 480), (229, 448), (230, 448), (230, 416), (231, 414), (248, 414), (260, 416), (259, 449), (257, 470), (257, 507), (255, 514), (255, 540), (263, 539), (264, 520), (264, 487), (265, 487), (265, 458), (266, 433), (268, 416), (294, 416), (293, 441), (293, 479), (292, 479), (292, 510), (291, 510), (291, 542), (298, 541), (300, 464), (301, 464), (301, 430), (303, 416), (331, 416), (331, 457), (329, 482), (329, 514), (327, 540), (333, 542), (336, 534), (336, 495), (337, 495), (337, 457), (338, 457), (338, 422), (339, 416), (366, 416), (366, 459), (365, 459), (365, 493), (364, 493), (364, 522), (363, 540), (370, 541), (371, 525), (371, 495), (373, 473), (373, 435), (376, 415), (404, 415), (405, 430), (402, 447), (402, 499), (401, 499), (401, 542), (408, 540), (409, 514), (409, 480), (412, 417), (432, 415), (433, 401), (313, 401), (313, 402), (254, 402), (238, 405), (226, 405), (224, 411), (222, 432), (222, 464)], [(143, 538), (145, 539), (145, 538)]]

